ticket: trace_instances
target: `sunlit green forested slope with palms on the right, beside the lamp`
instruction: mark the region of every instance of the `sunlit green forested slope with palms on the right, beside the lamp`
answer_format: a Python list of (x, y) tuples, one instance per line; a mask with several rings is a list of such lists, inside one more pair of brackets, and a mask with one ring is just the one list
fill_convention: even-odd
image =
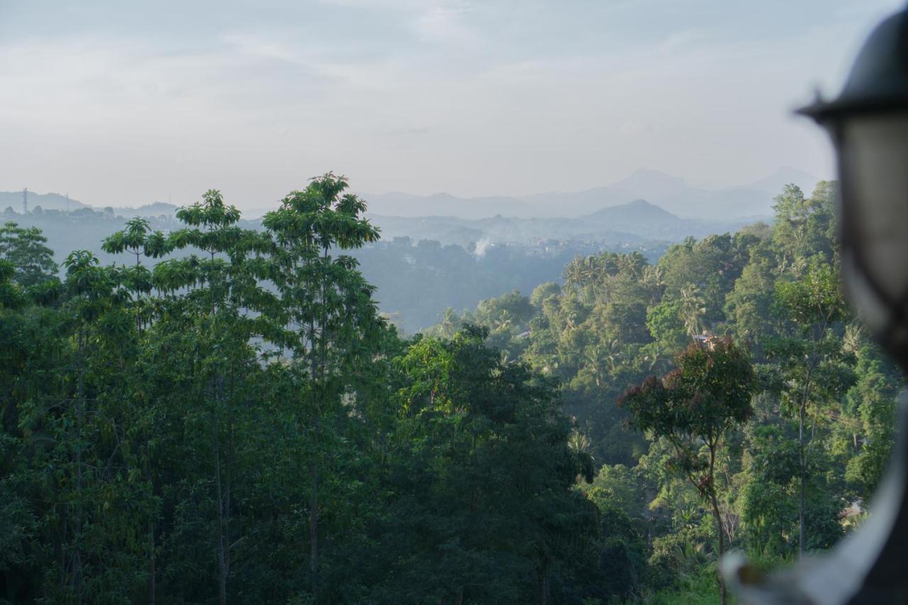
[[(842, 298), (834, 186), (786, 186), (772, 227), (691, 238), (656, 263), (578, 256), (563, 285), (449, 309), (427, 331), (484, 326), (504, 362), (558, 379), (570, 445), (597, 467), (581, 489), (625, 513), (637, 532), (625, 547), (645, 553), (637, 590), (671, 586), (671, 602), (695, 602), (715, 590), (720, 537), (775, 564), (829, 548), (873, 509), (903, 377)], [(731, 409), (721, 376), (688, 383), (696, 371), (678, 370), (718, 363), (696, 351), (726, 343), (751, 366), (725, 372), (752, 395), (732, 416), (718, 413)], [(700, 383), (711, 386), (691, 390)], [(718, 412), (710, 392), (726, 393)]]

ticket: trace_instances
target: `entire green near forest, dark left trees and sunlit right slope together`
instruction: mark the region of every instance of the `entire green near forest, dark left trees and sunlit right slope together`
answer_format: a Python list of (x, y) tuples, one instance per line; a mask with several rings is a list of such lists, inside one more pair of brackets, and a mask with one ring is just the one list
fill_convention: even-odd
[(411, 338), (364, 247), (456, 251), (382, 247), (333, 174), (260, 229), (216, 191), (130, 219), (121, 260), (62, 273), (6, 223), (0, 601), (725, 600), (719, 553), (829, 548), (892, 448), (903, 377), (844, 304), (834, 187), (657, 260), (553, 255)]

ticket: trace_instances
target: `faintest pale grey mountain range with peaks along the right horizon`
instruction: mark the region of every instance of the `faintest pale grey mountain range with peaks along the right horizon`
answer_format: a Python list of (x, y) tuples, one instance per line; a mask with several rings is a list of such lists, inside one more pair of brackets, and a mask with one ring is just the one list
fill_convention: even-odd
[(536, 193), (524, 197), (459, 198), (448, 193), (364, 193), (370, 214), (384, 216), (456, 216), (489, 218), (500, 214), (516, 218), (579, 217), (601, 208), (643, 199), (685, 218), (728, 220), (766, 217), (773, 213), (773, 198), (785, 183), (810, 193), (819, 181), (794, 168), (780, 168), (755, 183), (723, 189), (693, 187), (677, 176), (657, 170), (637, 170), (625, 179), (573, 193)]

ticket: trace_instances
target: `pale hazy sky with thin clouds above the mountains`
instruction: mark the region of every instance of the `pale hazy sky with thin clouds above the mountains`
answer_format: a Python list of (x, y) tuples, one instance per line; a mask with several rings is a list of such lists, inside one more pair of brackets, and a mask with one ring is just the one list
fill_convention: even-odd
[(902, 0), (0, 0), (0, 190), (270, 206), (824, 177), (790, 115)]

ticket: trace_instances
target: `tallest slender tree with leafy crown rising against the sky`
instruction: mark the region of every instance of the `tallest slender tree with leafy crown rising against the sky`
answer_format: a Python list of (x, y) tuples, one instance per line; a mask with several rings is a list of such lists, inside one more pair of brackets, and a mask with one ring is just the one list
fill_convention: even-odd
[[(320, 490), (327, 456), (327, 432), (341, 420), (342, 398), (349, 392), (350, 368), (382, 324), (374, 291), (349, 255), (378, 239), (379, 231), (362, 217), (366, 204), (344, 193), (347, 179), (324, 174), (303, 191), (283, 199), (262, 226), (271, 239), (268, 276), (279, 301), (266, 313), (277, 327), (271, 340), (291, 353), (300, 378), (301, 419), (310, 436), (309, 541), (311, 591), (320, 599)], [(301, 427), (302, 428), (302, 427)]]

